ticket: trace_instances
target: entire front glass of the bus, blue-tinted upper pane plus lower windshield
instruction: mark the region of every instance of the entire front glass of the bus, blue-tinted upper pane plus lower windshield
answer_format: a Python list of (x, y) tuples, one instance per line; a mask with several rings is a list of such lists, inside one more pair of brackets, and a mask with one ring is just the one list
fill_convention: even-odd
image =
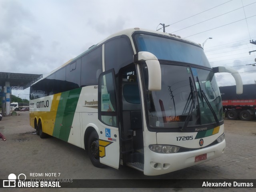
[(222, 121), (222, 102), (214, 72), (201, 47), (185, 40), (135, 34), (138, 52), (160, 61), (162, 89), (148, 91), (147, 66), (142, 66), (150, 127), (187, 128)]

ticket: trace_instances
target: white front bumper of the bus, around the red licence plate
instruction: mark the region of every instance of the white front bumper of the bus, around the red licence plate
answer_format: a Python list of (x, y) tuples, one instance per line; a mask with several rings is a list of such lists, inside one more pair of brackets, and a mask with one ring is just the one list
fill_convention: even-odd
[[(225, 147), (225, 140), (216, 145), (199, 150), (173, 154), (156, 153), (150, 150), (148, 147), (144, 147), (144, 174), (151, 176), (166, 174), (197, 165), (221, 156)], [(205, 160), (195, 162), (195, 158), (203, 154), (207, 154), (207, 158)]]

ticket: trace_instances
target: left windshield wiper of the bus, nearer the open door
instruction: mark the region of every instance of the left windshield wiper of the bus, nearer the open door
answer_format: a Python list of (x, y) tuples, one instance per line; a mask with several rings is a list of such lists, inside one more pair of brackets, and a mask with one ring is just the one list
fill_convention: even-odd
[(188, 110), (188, 116), (186, 117), (186, 120), (180, 130), (183, 130), (184, 128), (186, 128), (188, 126), (188, 122), (189, 122), (189, 120), (192, 116), (192, 112), (193, 112), (192, 107), (195, 108), (196, 95), (195, 95), (194, 86), (193, 86), (191, 77), (189, 77), (189, 84), (190, 84), (190, 94), (188, 96), (188, 100), (186, 102), (186, 105), (184, 107), (182, 114), (184, 114), (186, 112), (190, 102), (191, 102), (191, 104), (190, 104), (190, 108)]

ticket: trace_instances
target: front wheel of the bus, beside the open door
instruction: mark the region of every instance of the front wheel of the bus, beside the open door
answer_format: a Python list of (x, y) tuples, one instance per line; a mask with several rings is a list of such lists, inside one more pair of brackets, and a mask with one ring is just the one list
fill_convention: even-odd
[(99, 136), (93, 131), (88, 138), (88, 155), (95, 167), (102, 168), (104, 165), (100, 163)]

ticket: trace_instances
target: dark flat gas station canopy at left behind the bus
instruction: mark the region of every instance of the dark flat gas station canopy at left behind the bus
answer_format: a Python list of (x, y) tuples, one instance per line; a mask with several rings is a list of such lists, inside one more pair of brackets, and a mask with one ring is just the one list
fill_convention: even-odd
[(0, 86), (3, 88), (6, 86), (5, 82), (10, 82), (12, 89), (24, 90), (42, 77), (42, 74), (0, 72)]

